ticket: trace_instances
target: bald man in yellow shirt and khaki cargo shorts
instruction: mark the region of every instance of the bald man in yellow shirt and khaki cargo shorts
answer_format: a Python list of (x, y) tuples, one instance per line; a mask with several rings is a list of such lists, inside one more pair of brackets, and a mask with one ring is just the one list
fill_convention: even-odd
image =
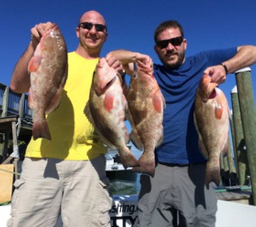
[[(49, 23), (31, 29), (32, 38), (15, 67), (11, 90), (29, 91), (27, 65)], [(64, 226), (110, 226), (106, 148), (84, 114), (93, 72), (108, 36), (107, 26), (99, 12), (88, 11), (80, 17), (75, 31), (79, 44), (68, 53), (61, 103), (47, 116), (52, 140), (31, 139), (27, 146), (8, 226), (55, 226), (60, 212)], [(106, 59), (109, 66), (123, 70), (119, 60)]]

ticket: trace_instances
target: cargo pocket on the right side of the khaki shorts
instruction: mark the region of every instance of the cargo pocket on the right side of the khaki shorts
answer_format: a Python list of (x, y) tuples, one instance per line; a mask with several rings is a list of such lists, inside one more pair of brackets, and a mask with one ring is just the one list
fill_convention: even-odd
[(109, 194), (108, 178), (104, 178), (99, 181), (99, 188), (101, 191), (100, 211), (102, 214), (99, 218), (99, 221), (102, 226), (105, 226), (110, 222), (109, 210), (112, 208), (113, 202), (112, 197)]

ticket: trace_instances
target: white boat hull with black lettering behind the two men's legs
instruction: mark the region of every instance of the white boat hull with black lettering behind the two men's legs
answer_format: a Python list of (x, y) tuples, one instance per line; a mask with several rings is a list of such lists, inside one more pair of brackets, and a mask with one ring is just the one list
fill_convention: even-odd
[[(137, 195), (114, 196), (115, 204), (110, 210), (112, 226), (137, 226)], [(10, 218), (11, 205), (0, 206), (0, 226), (6, 226)], [(123, 225), (123, 221), (126, 224)], [(216, 227), (255, 227), (256, 206), (218, 200)], [(55, 227), (62, 227), (61, 218)]]

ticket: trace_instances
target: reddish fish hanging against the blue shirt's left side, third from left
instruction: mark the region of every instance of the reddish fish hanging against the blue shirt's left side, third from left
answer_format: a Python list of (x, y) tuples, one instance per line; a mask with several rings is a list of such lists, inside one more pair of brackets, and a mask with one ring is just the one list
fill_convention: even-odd
[(136, 63), (136, 74), (130, 81), (126, 97), (128, 119), (132, 125), (130, 138), (143, 151), (139, 167), (134, 172), (155, 174), (155, 148), (163, 141), (163, 109), (165, 100), (153, 75), (153, 65), (148, 60)]

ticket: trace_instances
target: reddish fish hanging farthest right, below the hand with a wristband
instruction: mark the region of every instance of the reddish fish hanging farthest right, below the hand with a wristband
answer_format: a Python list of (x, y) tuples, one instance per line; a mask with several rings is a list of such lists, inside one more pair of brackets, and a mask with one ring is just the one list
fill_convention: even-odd
[(205, 183), (220, 183), (220, 155), (226, 155), (229, 134), (229, 106), (218, 84), (204, 74), (196, 93), (194, 122), (199, 135), (199, 148), (207, 159)]

